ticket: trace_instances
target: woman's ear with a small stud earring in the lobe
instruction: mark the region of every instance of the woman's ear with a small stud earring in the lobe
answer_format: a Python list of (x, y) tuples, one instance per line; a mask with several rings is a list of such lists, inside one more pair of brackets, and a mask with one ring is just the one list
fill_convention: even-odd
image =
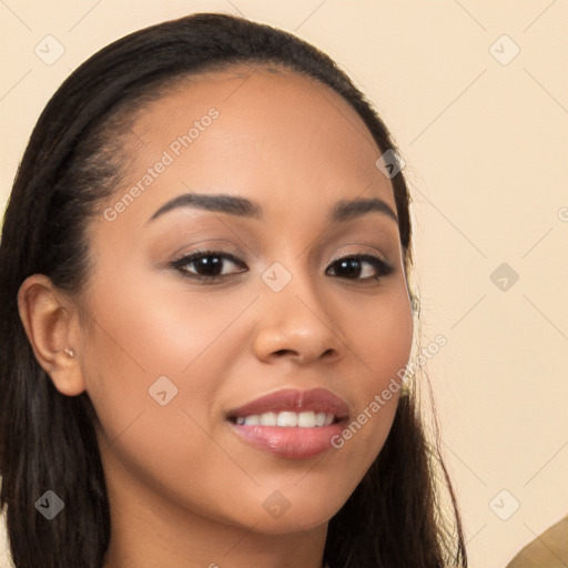
[(18, 292), (18, 310), (38, 363), (55, 388), (77, 396), (84, 389), (79, 364), (79, 318), (74, 302), (43, 274), (26, 278)]

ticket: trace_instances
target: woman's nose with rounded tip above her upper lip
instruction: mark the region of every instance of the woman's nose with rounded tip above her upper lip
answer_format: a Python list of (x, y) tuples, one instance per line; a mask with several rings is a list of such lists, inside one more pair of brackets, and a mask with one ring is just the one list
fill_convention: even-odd
[(294, 276), (281, 292), (263, 290), (254, 336), (256, 357), (264, 363), (287, 358), (297, 365), (336, 362), (346, 344), (329, 307), (307, 277)]

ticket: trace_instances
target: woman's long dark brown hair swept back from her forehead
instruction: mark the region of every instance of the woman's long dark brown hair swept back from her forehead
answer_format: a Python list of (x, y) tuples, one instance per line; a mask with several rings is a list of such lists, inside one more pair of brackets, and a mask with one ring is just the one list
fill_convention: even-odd
[[(233, 64), (280, 65), (315, 79), (351, 104), (381, 153), (395, 148), (372, 104), (329, 57), (291, 33), (227, 14), (197, 13), (131, 33), (63, 82), (23, 154), (0, 244), (0, 507), (17, 568), (101, 568), (111, 534), (94, 407), (87, 393), (59, 393), (38, 364), (18, 290), (40, 273), (79, 294), (89, 280), (89, 221), (123, 174), (118, 141), (135, 111), (186, 77)], [(392, 184), (408, 274), (409, 195), (402, 173)], [(51, 521), (34, 507), (47, 489), (72, 503)], [(437, 430), (428, 442), (414, 388), (403, 390), (385, 446), (331, 519), (324, 559), (332, 568), (467, 565)]]

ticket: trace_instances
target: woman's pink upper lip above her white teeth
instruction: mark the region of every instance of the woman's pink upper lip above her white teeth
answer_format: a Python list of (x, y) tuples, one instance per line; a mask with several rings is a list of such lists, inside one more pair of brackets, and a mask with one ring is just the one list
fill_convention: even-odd
[(280, 412), (308, 412), (331, 413), (336, 418), (347, 418), (349, 409), (347, 404), (326, 388), (312, 388), (310, 390), (298, 390), (294, 388), (284, 388), (261, 396), (251, 403), (239, 408), (229, 410), (229, 418), (239, 418), (241, 416), (251, 416), (253, 414), (280, 413)]

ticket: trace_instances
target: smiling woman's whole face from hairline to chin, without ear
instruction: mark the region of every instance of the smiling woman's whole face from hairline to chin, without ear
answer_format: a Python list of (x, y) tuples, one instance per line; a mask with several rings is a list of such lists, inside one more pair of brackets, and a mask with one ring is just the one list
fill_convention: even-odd
[(320, 83), (233, 70), (153, 102), (124, 152), (74, 345), (111, 507), (325, 524), (385, 442), (412, 344), (369, 132)]

